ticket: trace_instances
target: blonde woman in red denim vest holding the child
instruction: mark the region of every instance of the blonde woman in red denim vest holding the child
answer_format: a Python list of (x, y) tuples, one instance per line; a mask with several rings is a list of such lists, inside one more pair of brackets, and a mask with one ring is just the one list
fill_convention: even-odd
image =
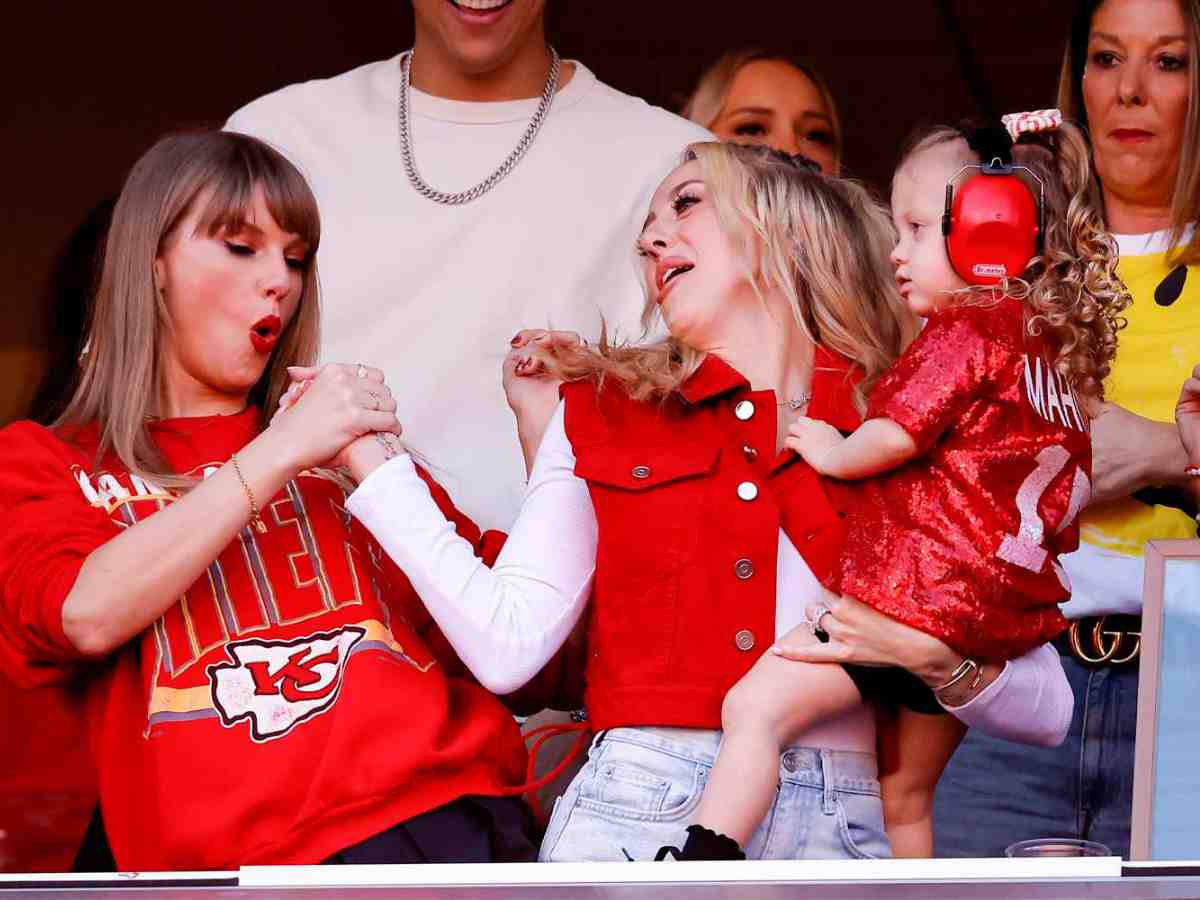
[[(540, 446), (526, 442), (530, 457), (536, 446), (528, 492), (493, 566), (455, 536), (407, 456), (358, 457), (348, 509), (485, 685), (522, 684), (589, 607), (587, 709), (599, 734), (541, 859), (647, 859), (682, 842), (726, 691), (778, 636), (814, 640), (805, 605), (845, 532), (818, 476), (780, 452), (784, 436), (802, 413), (854, 428), (916, 331), (888, 262), (887, 215), (814, 168), (764, 148), (688, 150), (637, 240), (646, 318), (661, 316), (670, 337), (557, 354), (568, 384)], [(517, 374), (533, 368), (522, 361)], [(521, 380), (510, 379), (510, 402), (536, 419)], [(932, 685), (961, 661), (896, 629), (901, 652), (876, 661)], [(979, 727), (1054, 739), (1069, 710), (1056, 666), (1034, 652), (942, 700), (964, 703), (955, 713)], [(775, 803), (746, 854), (887, 856), (875, 748), (862, 704), (808, 728), (780, 757)]]

